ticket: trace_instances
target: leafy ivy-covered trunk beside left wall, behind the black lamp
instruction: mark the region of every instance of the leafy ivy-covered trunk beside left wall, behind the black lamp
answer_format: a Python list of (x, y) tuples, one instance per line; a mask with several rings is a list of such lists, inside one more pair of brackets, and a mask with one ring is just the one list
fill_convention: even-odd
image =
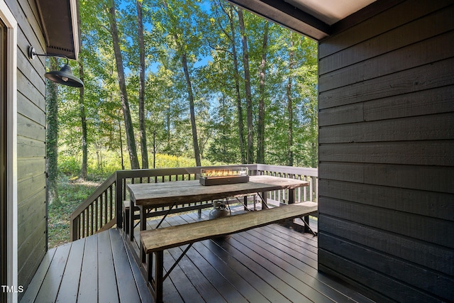
[[(50, 58), (50, 70), (58, 70), (57, 59)], [(46, 143), (46, 160), (48, 169), (49, 204), (60, 204), (57, 190), (57, 159), (58, 159), (58, 86), (57, 83), (47, 82), (48, 127)]]

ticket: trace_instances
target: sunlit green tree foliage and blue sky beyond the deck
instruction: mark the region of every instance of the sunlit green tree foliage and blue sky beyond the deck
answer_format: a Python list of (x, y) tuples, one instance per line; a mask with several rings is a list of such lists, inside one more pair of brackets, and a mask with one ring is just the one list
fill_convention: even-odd
[[(118, 6), (117, 20), (121, 51), (125, 58), (126, 84), (130, 101), (135, 140), (138, 142), (138, 39), (135, 1)], [(102, 177), (130, 167), (121, 100), (116, 80), (114, 52), (109, 33), (106, 1), (81, 0), (82, 50), (84, 66), (84, 108), (87, 115), (89, 175)], [(119, 4), (119, 3), (118, 3)], [(166, 13), (164, 6), (168, 6)], [(150, 167), (153, 153), (156, 167), (194, 165), (192, 161), (162, 160), (194, 158), (187, 86), (179, 55), (187, 54), (194, 92), (196, 128), (202, 163), (240, 162), (238, 121), (245, 124), (244, 70), (236, 9), (223, 0), (144, 0), (145, 35), (145, 127)], [(248, 35), (253, 121), (258, 120), (258, 92), (261, 48), (265, 21), (244, 12)], [(232, 24), (232, 27), (231, 27)], [(177, 35), (177, 40), (175, 40)], [(179, 44), (179, 45), (178, 45)], [(288, 151), (294, 165), (317, 165), (317, 46), (296, 33), (270, 23), (265, 70), (265, 162), (286, 164)], [(238, 116), (236, 69), (233, 47), (238, 60), (239, 98), (243, 106)], [(289, 54), (294, 54), (290, 67)], [(73, 72), (78, 73), (73, 64)], [(287, 84), (292, 79), (292, 110), (287, 111)], [(62, 87), (58, 112), (59, 167), (66, 175), (77, 176), (82, 162), (82, 126), (79, 92)], [(289, 146), (288, 129), (293, 128)], [(243, 134), (244, 135), (244, 134)], [(253, 134), (256, 142), (256, 133)], [(154, 140), (153, 140), (154, 139)], [(139, 155), (140, 157), (140, 155)], [(165, 157), (164, 157), (165, 158)], [(162, 158), (163, 159), (163, 158)], [(195, 163), (195, 162), (194, 162)]]

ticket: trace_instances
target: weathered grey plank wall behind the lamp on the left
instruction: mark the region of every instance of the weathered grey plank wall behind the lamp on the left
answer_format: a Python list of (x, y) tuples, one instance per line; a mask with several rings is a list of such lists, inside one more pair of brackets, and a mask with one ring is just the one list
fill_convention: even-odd
[(26, 287), (46, 250), (45, 59), (28, 60), (28, 45), (44, 53), (33, 0), (6, 0), (18, 22), (18, 284)]

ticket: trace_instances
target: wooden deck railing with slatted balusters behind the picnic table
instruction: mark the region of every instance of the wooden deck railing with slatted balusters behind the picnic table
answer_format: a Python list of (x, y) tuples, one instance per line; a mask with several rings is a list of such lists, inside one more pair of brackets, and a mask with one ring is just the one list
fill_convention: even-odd
[[(277, 165), (226, 165), (216, 167), (179, 167), (155, 170), (118, 170), (90, 195), (70, 216), (71, 239), (90, 236), (109, 229), (115, 224), (123, 226), (122, 203), (129, 199), (126, 184), (173, 182), (177, 180), (196, 180), (201, 168), (248, 167), (250, 175), (274, 175), (309, 181), (309, 187), (296, 191), (296, 202), (316, 201), (318, 197), (318, 170), (314, 168), (287, 167)], [(287, 202), (286, 192), (269, 192), (267, 199), (274, 202)], [(211, 207), (211, 202), (180, 204), (172, 212), (189, 211)], [(166, 209), (154, 209), (148, 216), (159, 216)]]

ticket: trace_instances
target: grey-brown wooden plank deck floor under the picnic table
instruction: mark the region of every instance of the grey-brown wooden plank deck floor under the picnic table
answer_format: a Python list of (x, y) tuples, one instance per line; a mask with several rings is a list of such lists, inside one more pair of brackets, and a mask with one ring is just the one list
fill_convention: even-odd
[[(164, 224), (197, 220), (184, 214)], [(167, 268), (182, 248), (165, 250)], [(49, 250), (21, 302), (153, 302), (134, 254), (116, 229)], [(372, 302), (317, 271), (316, 237), (277, 224), (194, 243), (165, 280), (164, 300)]]

